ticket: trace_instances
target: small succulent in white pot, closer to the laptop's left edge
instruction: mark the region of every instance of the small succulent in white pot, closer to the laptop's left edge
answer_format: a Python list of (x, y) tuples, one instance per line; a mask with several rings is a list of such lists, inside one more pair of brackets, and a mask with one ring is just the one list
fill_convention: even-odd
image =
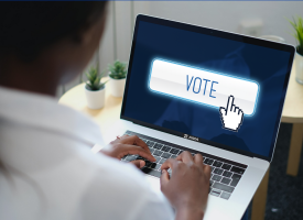
[(111, 95), (122, 97), (126, 87), (127, 64), (116, 61), (112, 65), (108, 66), (108, 70)]

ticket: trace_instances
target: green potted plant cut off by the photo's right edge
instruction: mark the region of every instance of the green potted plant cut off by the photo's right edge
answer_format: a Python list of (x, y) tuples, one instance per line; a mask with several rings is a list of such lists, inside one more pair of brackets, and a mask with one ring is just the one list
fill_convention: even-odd
[(296, 53), (295, 53), (295, 79), (299, 84), (303, 84), (303, 19), (297, 16), (290, 21), (291, 25), (294, 29), (293, 36), (297, 41)]

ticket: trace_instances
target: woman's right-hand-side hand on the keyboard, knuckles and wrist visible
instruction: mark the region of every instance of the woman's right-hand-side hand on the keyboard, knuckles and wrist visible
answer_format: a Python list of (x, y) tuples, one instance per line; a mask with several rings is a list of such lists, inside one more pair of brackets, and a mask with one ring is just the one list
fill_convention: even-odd
[[(171, 176), (167, 168), (172, 169)], [(176, 219), (203, 219), (210, 178), (210, 166), (203, 156), (183, 152), (161, 166), (161, 190), (176, 209)]]

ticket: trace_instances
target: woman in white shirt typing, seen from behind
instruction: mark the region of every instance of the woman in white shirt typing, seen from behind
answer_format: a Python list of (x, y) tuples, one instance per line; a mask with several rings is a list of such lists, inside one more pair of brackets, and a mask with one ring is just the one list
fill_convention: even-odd
[[(117, 158), (154, 161), (137, 136), (94, 155), (99, 128), (55, 100), (82, 73), (106, 23), (106, 2), (0, 4), (0, 219), (203, 219), (210, 167), (184, 152), (162, 165), (161, 189)], [(138, 167), (143, 161), (133, 162)], [(170, 177), (166, 169), (172, 168)]]

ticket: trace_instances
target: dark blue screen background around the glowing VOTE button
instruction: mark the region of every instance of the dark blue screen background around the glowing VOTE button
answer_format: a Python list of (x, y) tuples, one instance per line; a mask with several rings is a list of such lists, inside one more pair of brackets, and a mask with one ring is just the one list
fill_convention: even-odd
[[(290, 53), (140, 21), (123, 116), (269, 156), (280, 117)], [(151, 91), (154, 58), (209, 69), (259, 84), (252, 117), (238, 132), (223, 129), (219, 109)]]

